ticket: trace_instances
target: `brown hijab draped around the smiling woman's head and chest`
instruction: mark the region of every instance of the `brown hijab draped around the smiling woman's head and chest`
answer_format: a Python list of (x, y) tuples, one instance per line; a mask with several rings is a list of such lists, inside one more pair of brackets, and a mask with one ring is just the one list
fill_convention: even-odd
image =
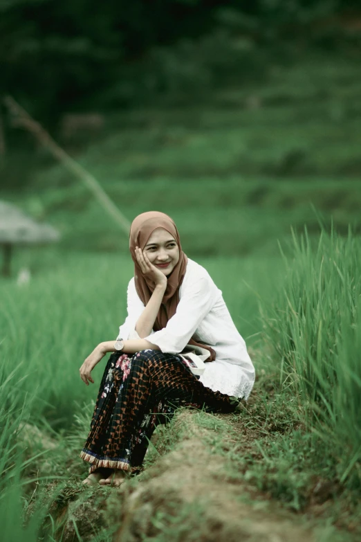
[[(139, 248), (143, 250), (151, 233), (153, 233), (156, 228), (164, 228), (167, 230), (167, 232), (174, 237), (179, 248), (179, 260), (172, 270), (172, 273), (167, 276), (167, 289), (165, 290), (162, 305), (160, 305), (154, 323), (154, 330), (158, 331), (159, 329), (163, 329), (163, 327), (167, 325), (169, 318), (172, 318), (172, 316), (176, 314), (176, 308), (179, 302), (179, 287), (183, 282), (188, 258), (182, 250), (179, 233), (176, 224), (174, 224), (171, 217), (165, 215), (165, 213), (158, 213), (158, 211), (149, 211), (149, 213), (138, 215), (138, 217), (133, 220), (129, 235), (129, 249), (131, 258), (134, 262), (136, 291), (144, 305), (147, 305), (147, 302), (151, 298), (151, 294), (154, 291), (154, 282), (142, 274), (140, 265), (136, 259), (136, 246), (139, 246)], [(193, 338), (189, 340), (189, 344), (201, 346), (209, 350), (210, 358), (208, 358), (207, 361), (216, 359), (216, 353), (210, 346), (197, 343)]]

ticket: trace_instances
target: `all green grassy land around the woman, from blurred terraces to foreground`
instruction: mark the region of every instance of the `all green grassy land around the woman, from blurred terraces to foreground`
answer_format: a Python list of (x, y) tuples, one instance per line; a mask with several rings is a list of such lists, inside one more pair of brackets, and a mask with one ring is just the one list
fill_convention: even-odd
[[(6, 541), (110, 541), (118, 528), (144, 541), (213, 541), (210, 503), (197, 494), (194, 507), (187, 491), (175, 498), (180, 456), (223, 496), (216, 542), (239, 532), (254, 541), (360, 538), (360, 85), (353, 63), (309, 59), (279, 67), (262, 88), (228, 89), (196, 109), (114, 114), (92, 143), (62, 142), (129, 220), (149, 209), (174, 217), (183, 249), (223, 291), (257, 370), (237, 415), (192, 413), (189, 422), (180, 413), (159, 431), (145, 472), (122, 496), (80, 485), (86, 467), (77, 453), (102, 364), (90, 388), (78, 369), (124, 320), (127, 237), (43, 152), (10, 150), (3, 199), (59, 228), (62, 241), (19, 249), (12, 278), (0, 282)], [(24, 267), (31, 279), (21, 286)], [(193, 470), (187, 433), (199, 436), (203, 458)], [(156, 488), (166, 483), (160, 502)], [(144, 519), (132, 508), (133, 493)], [(228, 515), (242, 518), (245, 507), (250, 531)], [(258, 523), (263, 534), (252, 539)]]

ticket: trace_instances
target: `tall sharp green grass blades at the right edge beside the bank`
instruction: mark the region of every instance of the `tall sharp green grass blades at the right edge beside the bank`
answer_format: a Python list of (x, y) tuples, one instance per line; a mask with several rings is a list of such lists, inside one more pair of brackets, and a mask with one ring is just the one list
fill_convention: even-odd
[[(307, 422), (333, 458), (341, 485), (361, 480), (361, 250), (322, 233), (316, 250), (294, 240), (284, 287), (263, 321), (281, 379), (303, 397)], [(322, 463), (323, 458), (319, 459)]]

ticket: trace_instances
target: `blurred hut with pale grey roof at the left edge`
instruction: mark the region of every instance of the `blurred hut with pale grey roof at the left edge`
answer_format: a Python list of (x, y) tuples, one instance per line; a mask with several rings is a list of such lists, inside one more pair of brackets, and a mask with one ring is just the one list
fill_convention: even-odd
[(7, 201), (0, 201), (0, 246), (3, 247), (3, 275), (10, 275), (14, 246), (53, 243), (59, 239), (60, 234), (53, 226), (35, 222), (15, 205), (9, 204)]

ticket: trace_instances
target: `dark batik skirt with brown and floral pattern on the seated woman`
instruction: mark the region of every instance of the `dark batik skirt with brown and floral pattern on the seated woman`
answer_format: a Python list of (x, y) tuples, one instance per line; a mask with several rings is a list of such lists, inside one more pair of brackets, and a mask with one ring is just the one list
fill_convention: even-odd
[(114, 352), (104, 370), (91, 430), (80, 457), (97, 469), (140, 470), (158, 424), (180, 406), (230, 413), (237, 402), (206, 388), (176, 354)]

